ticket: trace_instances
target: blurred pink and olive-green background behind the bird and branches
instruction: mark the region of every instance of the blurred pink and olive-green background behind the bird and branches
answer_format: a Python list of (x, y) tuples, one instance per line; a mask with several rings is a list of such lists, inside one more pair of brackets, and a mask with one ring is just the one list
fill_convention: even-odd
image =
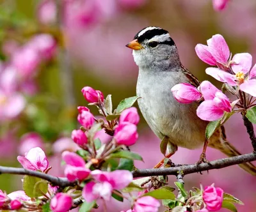
[[(136, 95), (138, 68), (125, 45), (143, 27), (167, 29), (184, 66), (199, 80), (220, 87), (205, 74), (207, 64), (196, 56), (195, 45), (222, 34), (233, 54), (249, 52), (255, 63), (255, 22), (254, 0), (232, 0), (220, 12), (213, 10), (211, 0), (1, 0), (0, 165), (20, 167), (17, 156), (40, 146), (53, 167), (50, 174), (61, 176), (61, 152), (77, 148), (70, 132), (77, 128), (76, 107), (86, 105), (81, 88), (91, 86), (105, 96), (112, 94), (115, 106)], [(228, 140), (241, 153), (250, 153), (241, 116), (233, 116), (225, 126)], [(142, 116), (139, 133), (131, 149), (145, 163), (136, 167), (153, 167), (163, 156), (159, 139)], [(173, 162), (195, 163), (200, 152), (179, 148)], [(207, 157), (225, 156), (209, 148)], [(21, 189), (20, 179), (0, 175), (1, 190)], [(175, 177), (169, 179), (173, 185)], [(190, 174), (184, 180), (188, 189), (215, 183), (244, 202), (238, 211), (256, 211), (256, 178), (238, 166)], [(113, 200), (108, 207), (115, 212), (129, 205)]]

